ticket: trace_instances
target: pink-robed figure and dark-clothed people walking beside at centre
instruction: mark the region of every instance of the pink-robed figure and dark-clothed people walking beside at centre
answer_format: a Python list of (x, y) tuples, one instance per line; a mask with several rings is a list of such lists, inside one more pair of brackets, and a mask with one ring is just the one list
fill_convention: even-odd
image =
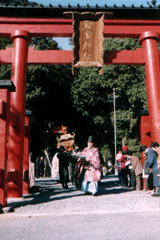
[(71, 162), (64, 146), (59, 148), (56, 157), (59, 160), (59, 179), (63, 189), (68, 188), (68, 165), (71, 164), (72, 182), (76, 187), (86, 195), (98, 195), (98, 182), (102, 177), (102, 169), (100, 154), (98, 148), (94, 147), (93, 136), (88, 138), (87, 147), (83, 151), (79, 151), (79, 147), (75, 145)]

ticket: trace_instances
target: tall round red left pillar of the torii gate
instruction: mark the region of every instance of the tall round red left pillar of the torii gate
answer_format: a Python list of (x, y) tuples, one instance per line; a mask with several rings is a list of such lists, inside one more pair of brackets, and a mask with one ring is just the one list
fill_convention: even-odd
[(23, 154), (24, 154), (24, 122), (26, 99), (27, 54), (30, 34), (18, 30), (11, 34), (13, 41), (13, 61), (11, 79), (16, 86), (16, 92), (11, 94), (11, 112), (18, 117), (18, 126), (9, 129), (9, 161), (8, 161), (8, 191), (7, 197), (22, 196), (23, 184)]

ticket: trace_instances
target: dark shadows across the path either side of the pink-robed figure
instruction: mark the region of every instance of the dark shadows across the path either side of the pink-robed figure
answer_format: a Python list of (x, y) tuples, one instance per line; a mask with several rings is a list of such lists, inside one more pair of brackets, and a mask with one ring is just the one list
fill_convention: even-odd
[[(39, 188), (39, 192), (23, 196), (22, 201), (11, 202), (8, 206), (14, 209), (27, 205), (37, 205), (67, 198), (83, 196), (84, 193), (77, 190), (73, 185), (69, 184), (69, 188), (63, 190), (61, 185), (54, 180), (38, 180), (35, 186)], [(108, 194), (120, 194), (132, 191), (129, 188), (121, 188), (117, 178), (113, 175), (107, 175), (99, 183), (99, 196)], [(84, 196), (85, 197), (85, 196)]]

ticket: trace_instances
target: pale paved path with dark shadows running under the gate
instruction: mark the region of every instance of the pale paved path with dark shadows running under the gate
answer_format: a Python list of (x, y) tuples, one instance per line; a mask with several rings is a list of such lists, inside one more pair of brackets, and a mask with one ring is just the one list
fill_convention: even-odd
[(158, 240), (159, 197), (118, 186), (114, 175), (101, 181), (99, 196), (85, 196), (71, 183), (37, 179), (40, 192), (9, 199), (13, 213), (0, 214), (3, 240)]

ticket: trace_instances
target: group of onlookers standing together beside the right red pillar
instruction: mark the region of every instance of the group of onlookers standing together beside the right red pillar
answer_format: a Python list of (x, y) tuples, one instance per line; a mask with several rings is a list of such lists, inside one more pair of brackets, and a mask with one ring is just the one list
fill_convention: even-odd
[[(118, 146), (115, 168), (118, 171), (119, 183), (123, 187), (133, 190), (143, 190), (151, 196), (160, 194), (160, 147), (157, 142), (152, 142), (150, 147), (140, 146), (144, 162), (128, 151), (128, 146)], [(143, 181), (144, 179), (144, 181)]]

